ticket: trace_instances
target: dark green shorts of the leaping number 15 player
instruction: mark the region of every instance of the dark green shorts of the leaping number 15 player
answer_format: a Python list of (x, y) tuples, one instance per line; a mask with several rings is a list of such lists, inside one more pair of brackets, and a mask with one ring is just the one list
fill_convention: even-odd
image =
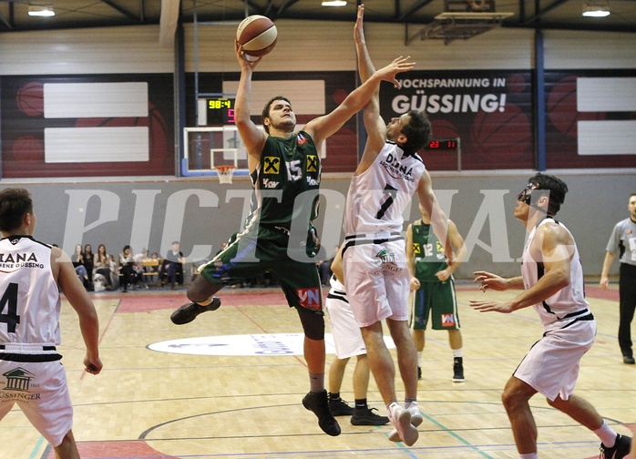
[[(288, 252), (289, 237), (281, 230), (259, 229), (239, 235), (214, 259), (200, 267), (200, 274), (214, 284), (232, 285), (241, 280), (272, 273), (279, 281), (288, 304), (323, 311), (323, 291), (315, 261), (303, 246)], [(296, 260), (294, 260), (296, 259)], [(299, 261), (303, 260), (303, 261)]]

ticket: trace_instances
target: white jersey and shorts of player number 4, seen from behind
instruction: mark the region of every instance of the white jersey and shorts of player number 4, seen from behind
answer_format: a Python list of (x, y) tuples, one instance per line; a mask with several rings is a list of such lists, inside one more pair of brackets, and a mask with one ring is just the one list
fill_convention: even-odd
[(55, 346), (60, 305), (51, 248), (30, 236), (0, 240), (0, 420), (17, 403), (54, 447), (73, 426)]

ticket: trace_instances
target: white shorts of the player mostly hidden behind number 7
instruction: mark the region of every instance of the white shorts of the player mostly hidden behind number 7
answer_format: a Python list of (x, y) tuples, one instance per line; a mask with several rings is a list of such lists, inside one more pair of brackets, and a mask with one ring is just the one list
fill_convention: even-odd
[(344, 286), (337, 280), (332, 280), (332, 288), (327, 300), (324, 301), (324, 309), (327, 311), (336, 357), (347, 359), (355, 355), (364, 355), (366, 345), (360, 327), (354, 319), (354, 311), (351, 311)]

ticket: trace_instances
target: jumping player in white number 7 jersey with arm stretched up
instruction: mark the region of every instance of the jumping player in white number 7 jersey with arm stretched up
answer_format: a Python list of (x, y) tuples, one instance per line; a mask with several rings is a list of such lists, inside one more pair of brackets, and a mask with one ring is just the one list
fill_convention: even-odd
[[(354, 39), (358, 69), (364, 81), (374, 72), (363, 31), (364, 5), (358, 6)], [(439, 209), (417, 150), (430, 137), (430, 123), (423, 113), (411, 110), (385, 124), (380, 116), (379, 93), (364, 107), (367, 134), (364, 153), (354, 172), (344, 209), (344, 284), (361, 327), (369, 365), (386, 403), (395, 432), (393, 441), (410, 446), (423, 418), (417, 406), (417, 352), (408, 329), (409, 274), (402, 214), (417, 193), (432, 216), (440, 240), (446, 242), (449, 262), (452, 246), (446, 240), (447, 219)], [(405, 407), (397, 403), (395, 364), (386, 349), (382, 321), (395, 342), (400, 375), (405, 385)], [(413, 419), (412, 419), (413, 418)]]

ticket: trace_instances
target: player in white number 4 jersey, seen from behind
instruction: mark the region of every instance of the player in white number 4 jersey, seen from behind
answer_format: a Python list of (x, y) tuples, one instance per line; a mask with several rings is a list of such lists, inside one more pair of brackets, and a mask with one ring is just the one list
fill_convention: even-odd
[(79, 458), (60, 342), (60, 291), (79, 316), (86, 371), (101, 371), (97, 312), (67, 254), (33, 239), (36, 215), (26, 189), (0, 191), (0, 420), (15, 403), (57, 458)]

